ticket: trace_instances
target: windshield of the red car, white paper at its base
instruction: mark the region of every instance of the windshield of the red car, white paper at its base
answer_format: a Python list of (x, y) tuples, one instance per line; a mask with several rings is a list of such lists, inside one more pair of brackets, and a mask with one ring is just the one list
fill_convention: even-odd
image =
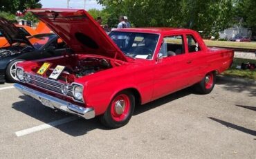
[(152, 59), (159, 35), (113, 31), (109, 37), (125, 55), (139, 59)]

